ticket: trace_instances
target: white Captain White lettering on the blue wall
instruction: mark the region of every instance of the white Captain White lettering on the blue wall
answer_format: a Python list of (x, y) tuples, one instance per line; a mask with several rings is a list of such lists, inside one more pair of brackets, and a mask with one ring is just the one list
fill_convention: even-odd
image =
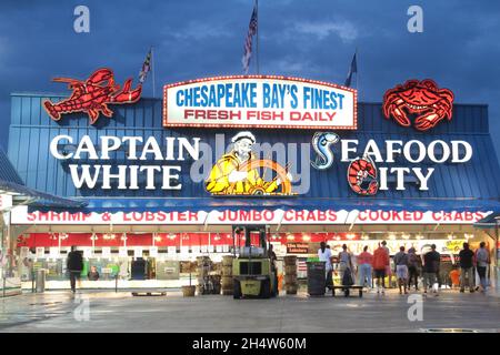
[[(139, 190), (141, 180), (146, 181), (146, 190), (181, 190), (181, 166), (166, 162), (198, 160), (199, 141), (199, 138), (166, 138), (163, 142), (158, 142), (154, 136), (101, 135), (99, 144), (94, 144), (89, 135), (83, 135), (73, 145), (71, 135), (57, 135), (50, 143), (50, 153), (58, 160), (68, 161), (71, 180), (77, 189), (100, 186), (102, 190)], [(117, 151), (126, 151), (127, 162), (136, 164), (112, 164), (110, 155)], [(157, 164), (142, 164), (150, 159)], [(80, 160), (84, 163), (80, 163)]]

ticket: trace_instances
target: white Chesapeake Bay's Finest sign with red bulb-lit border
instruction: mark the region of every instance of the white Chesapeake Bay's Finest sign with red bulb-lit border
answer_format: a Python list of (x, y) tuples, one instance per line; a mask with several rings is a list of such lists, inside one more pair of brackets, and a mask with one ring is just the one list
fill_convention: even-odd
[(357, 129), (357, 91), (276, 75), (218, 77), (166, 85), (164, 126)]

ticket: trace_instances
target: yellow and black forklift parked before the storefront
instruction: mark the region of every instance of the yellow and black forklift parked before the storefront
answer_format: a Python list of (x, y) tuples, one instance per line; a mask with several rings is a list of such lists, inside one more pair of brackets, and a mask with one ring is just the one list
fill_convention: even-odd
[[(259, 244), (252, 245), (258, 233)], [(232, 263), (233, 298), (270, 298), (278, 296), (276, 265), (268, 255), (266, 225), (234, 225), (232, 227), (234, 260)], [(244, 235), (244, 246), (239, 241)], [(238, 239), (238, 245), (236, 240)], [(237, 257), (236, 251), (239, 248)]]

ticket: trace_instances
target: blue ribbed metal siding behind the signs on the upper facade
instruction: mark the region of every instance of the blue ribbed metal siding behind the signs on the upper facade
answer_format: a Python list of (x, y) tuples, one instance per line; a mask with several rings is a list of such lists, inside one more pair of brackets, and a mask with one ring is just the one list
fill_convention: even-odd
[[(89, 125), (87, 114), (74, 113), (63, 115), (60, 122), (51, 120), (41, 109), (43, 99), (60, 100), (62, 97), (40, 94), (13, 94), (11, 108), (11, 125), (9, 141), (9, 158), (27, 185), (40, 191), (61, 196), (157, 196), (189, 197), (208, 196), (203, 183), (192, 183), (189, 179), (188, 162), (176, 162), (182, 165), (182, 191), (77, 191), (72, 184), (68, 162), (53, 159), (49, 152), (50, 141), (59, 134), (73, 136), (78, 142), (88, 134), (93, 142), (101, 135), (154, 135), (158, 141), (167, 136), (200, 136), (214, 148), (217, 133), (226, 134), (226, 144), (234, 130), (221, 129), (164, 129), (162, 128), (162, 101), (141, 99), (131, 105), (113, 105), (114, 116), (101, 116), (96, 126)], [(374, 139), (379, 148), (386, 140), (408, 141), (417, 139), (426, 144), (437, 139), (446, 141), (464, 140), (473, 148), (473, 156), (466, 164), (438, 164), (429, 181), (429, 191), (419, 191), (416, 184), (407, 184), (406, 191), (397, 191), (390, 183), (389, 191), (380, 191), (380, 199), (429, 199), (429, 197), (479, 197), (499, 199), (500, 166), (494, 153), (491, 136), (488, 132), (488, 106), (464, 105), (453, 106), (453, 119), (442, 122), (429, 132), (418, 132), (406, 129), (382, 115), (380, 103), (360, 103), (358, 106), (359, 129), (354, 132), (339, 131), (341, 139), (358, 139), (362, 148)], [(313, 131), (307, 130), (252, 130), (259, 142), (268, 143), (310, 143)], [(347, 163), (339, 162), (339, 146), (334, 146), (336, 164), (328, 171), (311, 169), (311, 187), (306, 195), (309, 197), (352, 197), (359, 199), (347, 183)], [(384, 149), (382, 149), (384, 150)], [(216, 152), (213, 152), (216, 154)], [(311, 150), (312, 154), (312, 150)], [(112, 162), (118, 164), (124, 160), (124, 152), (113, 155)], [(214, 156), (216, 158), (216, 156)], [(81, 161), (79, 162), (81, 163)], [(298, 163), (300, 164), (300, 163)], [(394, 166), (410, 166), (398, 159)], [(390, 166), (390, 165), (387, 165)], [(417, 165), (412, 165), (417, 166)], [(420, 164), (431, 168), (430, 161)], [(300, 168), (300, 166), (299, 166)], [(411, 166), (410, 166), (411, 168)], [(299, 170), (300, 171), (300, 170)]]

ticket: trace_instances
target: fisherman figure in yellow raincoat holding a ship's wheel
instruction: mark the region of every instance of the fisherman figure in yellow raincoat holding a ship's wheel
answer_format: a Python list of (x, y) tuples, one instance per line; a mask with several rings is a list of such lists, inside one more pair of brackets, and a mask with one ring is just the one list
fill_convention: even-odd
[[(291, 194), (291, 174), (274, 161), (256, 159), (252, 153), (256, 138), (251, 132), (239, 132), (231, 142), (232, 151), (217, 161), (206, 181), (208, 192), (222, 195)], [(264, 180), (268, 169), (276, 173), (270, 181)], [(263, 170), (262, 174), (260, 170)]]

